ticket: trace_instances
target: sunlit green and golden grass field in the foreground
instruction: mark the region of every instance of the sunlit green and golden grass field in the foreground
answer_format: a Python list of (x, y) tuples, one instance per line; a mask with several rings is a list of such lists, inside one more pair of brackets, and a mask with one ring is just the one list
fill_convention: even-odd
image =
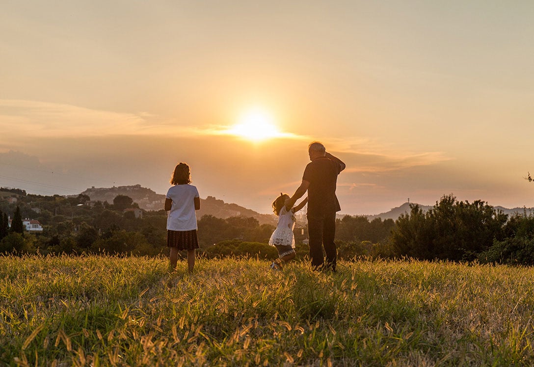
[(532, 365), (534, 270), (0, 257), (6, 365)]

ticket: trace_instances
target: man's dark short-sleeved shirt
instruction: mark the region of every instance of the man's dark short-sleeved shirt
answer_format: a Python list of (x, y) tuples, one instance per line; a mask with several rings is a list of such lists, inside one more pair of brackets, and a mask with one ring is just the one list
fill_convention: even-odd
[(319, 157), (308, 163), (303, 180), (310, 182), (308, 187), (308, 215), (335, 213), (340, 211), (335, 196), (337, 175), (341, 165), (327, 157)]

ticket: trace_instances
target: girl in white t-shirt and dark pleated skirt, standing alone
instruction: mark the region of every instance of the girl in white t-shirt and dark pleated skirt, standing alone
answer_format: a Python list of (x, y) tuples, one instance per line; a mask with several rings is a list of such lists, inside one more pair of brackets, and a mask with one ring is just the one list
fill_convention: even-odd
[(170, 180), (171, 186), (165, 197), (167, 217), (167, 246), (170, 248), (170, 267), (176, 268), (178, 251), (187, 250), (187, 266), (193, 272), (195, 249), (199, 248), (197, 238), (197, 214), (200, 196), (197, 188), (190, 185), (190, 170), (186, 163), (179, 163)]

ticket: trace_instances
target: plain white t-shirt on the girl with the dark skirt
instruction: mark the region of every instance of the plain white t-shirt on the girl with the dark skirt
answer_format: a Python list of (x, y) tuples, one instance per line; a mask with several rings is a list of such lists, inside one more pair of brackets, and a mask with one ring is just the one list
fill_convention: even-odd
[(174, 185), (169, 188), (166, 198), (172, 200), (172, 206), (167, 217), (167, 229), (185, 231), (198, 228), (195, 197), (200, 196), (193, 185)]

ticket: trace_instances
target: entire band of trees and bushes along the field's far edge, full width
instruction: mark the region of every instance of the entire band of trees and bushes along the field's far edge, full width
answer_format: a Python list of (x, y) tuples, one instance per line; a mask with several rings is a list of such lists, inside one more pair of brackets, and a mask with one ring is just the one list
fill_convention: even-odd
[[(136, 218), (124, 211), (138, 208), (127, 196), (118, 195), (113, 204), (97, 202), (89, 207), (87, 202), (85, 195), (24, 195), (16, 206), (0, 202), (0, 252), (167, 254), (164, 210), (144, 211), (142, 218)], [(19, 222), (15, 215), (33, 217), (45, 229), (39, 235), (13, 225), (8, 230), (6, 213), (14, 214), (13, 224)], [(198, 228), (204, 256), (276, 256), (268, 245), (275, 227), (260, 225), (255, 218), (205, 215), (198, 220)], [(297, 254), (304, 257), (307, 226), (297, 225), (294, 234)], [(339, 257), (348, 260), (380, 257), (532, 265), (534, 217), (526, 211), (508, 217), (484, 201), (469, 203), (445, 195), (427, 212), (411, 205), (411, 211), (396, 221), (370, 221), (363, 216), (337, 219), (336, 243)]]

